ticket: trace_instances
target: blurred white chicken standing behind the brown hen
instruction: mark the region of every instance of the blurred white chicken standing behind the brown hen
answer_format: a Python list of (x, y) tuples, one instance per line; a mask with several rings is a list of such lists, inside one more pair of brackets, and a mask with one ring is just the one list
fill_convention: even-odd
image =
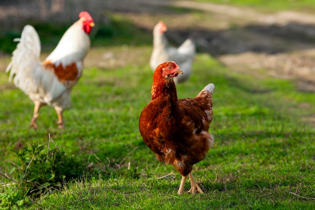
[(174, 78), (174, 82), (184, 82), (191, 75), (196, 46), (190, 38), (178, 48), (169, 46), (168, 39), (165, 36), (166, 31), (167, 27), (162, 21), (159, 21), (153, 28), (153, 50), (150, 57), (150, 67), (154, 72), (157, 65), (173, 60), (181, 66), (183, 71), (183, 75)]

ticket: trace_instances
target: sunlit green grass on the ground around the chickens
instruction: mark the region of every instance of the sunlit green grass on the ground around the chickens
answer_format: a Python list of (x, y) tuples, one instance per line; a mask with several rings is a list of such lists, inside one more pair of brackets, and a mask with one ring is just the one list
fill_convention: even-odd
[(115, 16), (96, 35), (90, 54), (102, 61), (102, 54), (112, 51), (116, 64), (85, 69), (64, 112), (63, 130), (54, 124), (51, 107), (40, 110), (37, 130), (28, 129), (33, 103), (0, 72), (0, 172), (9, 172), (11, 161), (18, 163), (11, 149), (47, 144), (48, 134), (86, 170), (84, 178), (21, 208), (313, 209), (314, 93), (299, 92), (290, 81), (232, 72), (206, 53), (197, 54), (193, 75), (177, 91), (179, 98), (193, 97), (208, 83), (215, 84), (209, 131), (216, 140), (193, 168), (204, 194), (176, 194), (179, 173), (155, 160), (138, 131), (139, 114), (151, 97), (151, 41), (150, 33), (129, 24)]

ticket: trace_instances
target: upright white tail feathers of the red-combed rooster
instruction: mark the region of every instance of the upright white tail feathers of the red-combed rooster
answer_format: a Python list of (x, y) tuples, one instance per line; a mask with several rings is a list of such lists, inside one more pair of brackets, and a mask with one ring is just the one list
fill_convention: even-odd
[(13, 56), (6, 72), (10, 71), (9, 81), (24, 92), (27, 92), (28, 80), (34, 74), (35, 69), (41, 65), (40, 62), (40, 40), (35, 29), (26, 25), (22, 31), (17, 48), (13, 51)]

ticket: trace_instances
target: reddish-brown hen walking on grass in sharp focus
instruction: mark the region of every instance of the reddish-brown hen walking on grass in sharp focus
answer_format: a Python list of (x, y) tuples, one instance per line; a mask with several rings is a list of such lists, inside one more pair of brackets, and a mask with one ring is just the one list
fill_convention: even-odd
[(151, 101), (143, 108), (139, 130), (156, 159), (176, 166), (182, 175), (178, 194), (182, 194), (187, 175), (195, 193), (202, 190), (191, 173), (204, 159), (214, 138), (208, 132), (212, 121), (214, 85), (207, 85), (195, 98), (178, 99), (174, 77), (183, 74), (174, 61), (160, 64), (153, 74)]

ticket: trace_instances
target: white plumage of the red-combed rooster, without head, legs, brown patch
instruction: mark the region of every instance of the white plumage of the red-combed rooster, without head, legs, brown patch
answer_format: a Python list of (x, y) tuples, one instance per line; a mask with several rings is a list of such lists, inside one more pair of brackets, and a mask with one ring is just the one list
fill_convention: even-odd
[(56, 66), (60, 63), (63, 67), (71, 63), (76, 64), (78, 76), (75, 81), (67, 83), (58, 80), (53, 68), (42, 64), (39, 58), (39, 36), (32, 26), (24, 27), (6, 72), (10, 72), (9, 81), (13, 80), (16, 87), (25, 92), (31, 100), (61, 108), (68, 104), (69, 94), (82, 75), (83, 59), (90, 48), (89, 36), (81, 29), (79, 21), (65, 32), (56, 48), (45, 59)]

